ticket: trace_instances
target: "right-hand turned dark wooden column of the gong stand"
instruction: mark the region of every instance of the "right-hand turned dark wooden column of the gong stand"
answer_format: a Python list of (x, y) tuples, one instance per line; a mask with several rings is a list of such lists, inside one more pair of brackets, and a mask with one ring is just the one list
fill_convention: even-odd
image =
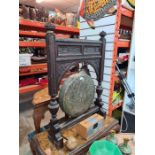
[(100, 114), (103, 115), (104, 117), (106, 117), (106, 112), (103, 109), (104, 102), (102, 101), (101, 96), (103, 92), (102, 81), (103, 81), (103, 73), (104, 73), (104, 59), (105, 59), (105, 45), (106, 45), (105, 35), (106, 33), (104, 31), (100, 33), (100, 41), (102, 41), (102, 47), (101, 47), (102, 58), (100, 60), (98, 86), (96, 87), (97, 98), (95, 101), (95, 104), (100, 107)]

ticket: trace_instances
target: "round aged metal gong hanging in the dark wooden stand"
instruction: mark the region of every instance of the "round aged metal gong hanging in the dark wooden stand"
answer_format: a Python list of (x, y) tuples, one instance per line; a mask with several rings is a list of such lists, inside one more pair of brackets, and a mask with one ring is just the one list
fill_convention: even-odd
[(94, 82), (85, 72), (71, 75), (60, 89), (61, 109), (69, 116), (76, 117), (88, 110), (95, 95)]

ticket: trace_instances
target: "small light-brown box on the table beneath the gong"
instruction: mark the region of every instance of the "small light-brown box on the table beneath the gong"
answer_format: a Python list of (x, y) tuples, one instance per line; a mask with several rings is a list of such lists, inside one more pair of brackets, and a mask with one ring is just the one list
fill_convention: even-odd
[(83, 138), (89, 139), (103, 128), (103, 121), (104, 117), (99, 114), (94, 114), (77, 124), (77, 133)]

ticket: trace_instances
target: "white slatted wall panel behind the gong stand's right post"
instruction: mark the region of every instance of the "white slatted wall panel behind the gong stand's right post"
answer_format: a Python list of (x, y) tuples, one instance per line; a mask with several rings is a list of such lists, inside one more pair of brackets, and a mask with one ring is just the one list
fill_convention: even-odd
[[(105, 63), (104, 63), (104, 76), (103, 76), (103, 93), (102, 99), (104, 101), (104, 109), (108, 110), (109, 100), (109, 89), (110, 89), (110, 78), (112, 69), (112, 55), (114, 47), (114, 31), (115, 31), (116, 15), (106, 15), (104, 18), (95, 21), (95, 30), (91, 29), (87, 22), (81, 17), (80, 18), (80, 38), (89, 40), (99, 40), (99, 33), (105, 31), (106, 35), (106, 50), (105, 50)], [(95, 79), (96, 75), (91, 67), (91, 75)], [(95, 82), (95, 85), (97, 83)]]

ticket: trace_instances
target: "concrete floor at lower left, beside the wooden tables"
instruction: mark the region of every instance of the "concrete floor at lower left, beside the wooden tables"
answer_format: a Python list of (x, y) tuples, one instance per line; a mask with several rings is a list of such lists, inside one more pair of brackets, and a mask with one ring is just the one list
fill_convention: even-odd
[[(34, 131), (33, 123), (33, 105), (32, 96), (33, 93), (20, 95), (19, 99), (19, 154), (20, 155), (32, 155), (28, 142), (28, 134)], [(41, 126), (48, 124), (50, 120), (50, 113), (45, 113), (45, 118), (41, 122)]]

